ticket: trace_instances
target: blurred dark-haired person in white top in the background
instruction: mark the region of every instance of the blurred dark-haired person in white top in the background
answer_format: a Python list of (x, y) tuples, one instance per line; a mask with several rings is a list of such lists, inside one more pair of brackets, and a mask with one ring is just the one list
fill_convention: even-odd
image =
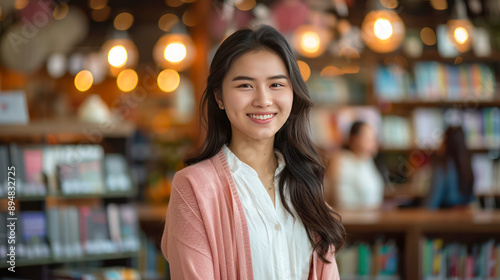
[(332, 157), (325, 183), (327, 202), (339, 210), (379, 208), (384, 180), (374, 161), (378, 151), (375, 130), (362, 121), (354, 122), (346, 148)]

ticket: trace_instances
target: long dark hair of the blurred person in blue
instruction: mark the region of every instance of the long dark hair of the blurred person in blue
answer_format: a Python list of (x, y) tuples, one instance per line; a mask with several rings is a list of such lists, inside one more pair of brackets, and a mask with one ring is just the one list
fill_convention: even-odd
[(471, 154), (467, 149), (465, 134), (461, 126), (450, 126), (444, 132), (444, 155), (438, 157), (438, 164), (445, 170), (451, 160), (458, 175), (458, 189), (466, 197), (472, 195), (474, 172), (472, 171)]

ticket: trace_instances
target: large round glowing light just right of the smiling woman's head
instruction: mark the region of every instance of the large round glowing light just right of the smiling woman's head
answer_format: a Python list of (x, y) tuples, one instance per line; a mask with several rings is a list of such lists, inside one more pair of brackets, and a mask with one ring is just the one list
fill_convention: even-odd
[(293, 33), (293, 46), (303, 56), (314, 58), (325, 52), (331, 40), (329, 30), (313, 25), (302, 25)]

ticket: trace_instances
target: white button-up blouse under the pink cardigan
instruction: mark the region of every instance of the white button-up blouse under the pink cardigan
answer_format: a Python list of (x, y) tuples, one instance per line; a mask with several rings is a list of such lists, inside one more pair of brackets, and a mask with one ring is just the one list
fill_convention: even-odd
[[(278, 190), (278, 173), (285, 167), (283, 155), (275, 150), (275, 205), (257, 172), (239, 160), (224, 145), (231, 174), (238, 190), (250, 235), (255, 279), (307, 279), (312, 246), (298, 215), (296, 220), (284, 208)], [(286, 196), (288, 205), (289, 195)], [(295, 212), (294, 212), (295, 213)]]

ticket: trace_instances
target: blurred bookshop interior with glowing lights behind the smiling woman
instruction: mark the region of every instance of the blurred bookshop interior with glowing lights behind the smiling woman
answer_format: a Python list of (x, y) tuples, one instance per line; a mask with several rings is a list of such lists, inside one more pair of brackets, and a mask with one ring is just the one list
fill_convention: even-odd
[(0, 279), (173, 279), (212, 59), (260, 25), (314, 103), (340, 279), (500, 280), (498, 0), (2, 0)]

